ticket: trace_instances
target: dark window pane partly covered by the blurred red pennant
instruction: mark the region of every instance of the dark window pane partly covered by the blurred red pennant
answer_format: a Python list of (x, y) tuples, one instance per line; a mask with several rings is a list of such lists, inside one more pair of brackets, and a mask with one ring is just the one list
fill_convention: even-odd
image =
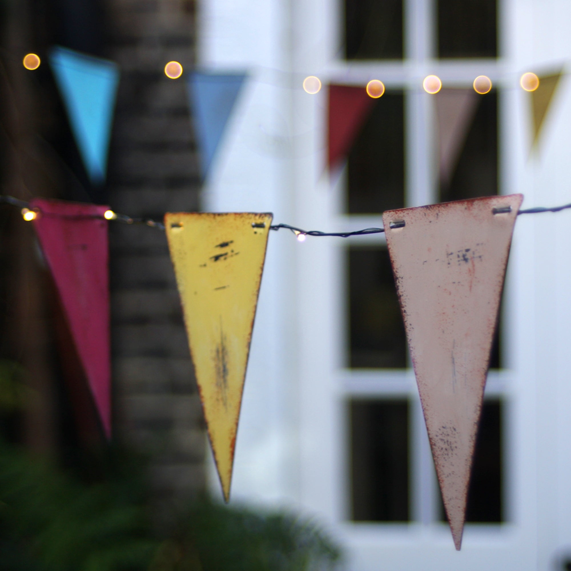
[(373, 111), (349, 152), (349, 214), (404, 208), (404, 95), (388, 92)]

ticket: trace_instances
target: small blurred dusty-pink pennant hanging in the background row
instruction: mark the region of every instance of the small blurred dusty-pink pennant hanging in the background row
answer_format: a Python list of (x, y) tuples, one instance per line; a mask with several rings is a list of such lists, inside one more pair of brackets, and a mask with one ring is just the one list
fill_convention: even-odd
[(438, 120), (440, 183), (448, 186), (481, 95), (473, 89), (441, 89), (434, 96)]

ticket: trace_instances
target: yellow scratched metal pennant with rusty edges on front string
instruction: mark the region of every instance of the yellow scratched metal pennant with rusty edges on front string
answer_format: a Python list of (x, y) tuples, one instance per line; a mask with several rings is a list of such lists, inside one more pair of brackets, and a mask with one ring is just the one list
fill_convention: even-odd
[(164, 226), (224, 499), (271, 214), (167, 213)]

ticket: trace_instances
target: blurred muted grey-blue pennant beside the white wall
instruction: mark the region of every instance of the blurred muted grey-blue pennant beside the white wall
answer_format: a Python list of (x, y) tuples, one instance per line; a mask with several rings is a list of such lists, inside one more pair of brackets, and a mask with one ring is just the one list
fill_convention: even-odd
[(203, 178), (210, 170), (244, 79), (244, 73), (223, 75), (202, 72), (192, 73), (188, 78), (188, 94), (194, 111)]

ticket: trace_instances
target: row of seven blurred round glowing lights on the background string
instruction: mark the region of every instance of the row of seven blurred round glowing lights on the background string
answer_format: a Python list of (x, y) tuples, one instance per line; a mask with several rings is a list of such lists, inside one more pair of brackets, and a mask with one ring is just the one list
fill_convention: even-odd
[[(23, 66), (30, 71), (37, 70), (42, 60), (37, 54), (26, 54)], [(164, 66), (164, 74), (169, 79), (179, 79), (183, 74), (183, 67), (179, 62), (171, 61)], [(527, 71), (520, 77), (520, 86), (524, 91), (535, 91), (540, 85), (540, 79), (532, 71)], [(305, 93), (315, 95), (321, 91), (321, 80), (315, 75), (308, 75), (303, 80), (302, 87)], [(478, 75), (472, 84), (474, 91), (485, 95), (492, 90), (492, 80), (487, 75)], [(427, 75), (423, 80), (423, 89), (428, 94), (436, 95), (442, 89), (442, 81), (437, 75)], [(367, 95), (379, 99), (385, 93), (385, 85), (380, 79), (371, 79), (365, 86)]]

